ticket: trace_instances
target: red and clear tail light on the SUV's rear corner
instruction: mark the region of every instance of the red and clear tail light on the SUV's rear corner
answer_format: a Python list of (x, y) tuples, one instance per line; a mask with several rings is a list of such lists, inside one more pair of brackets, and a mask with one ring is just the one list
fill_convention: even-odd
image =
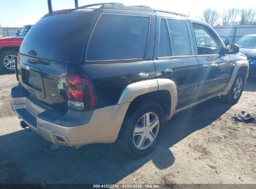
[(87, 110), (95, 106), (95, 94), (87, 77), (67, 75), (67, 98), (70, 109)]

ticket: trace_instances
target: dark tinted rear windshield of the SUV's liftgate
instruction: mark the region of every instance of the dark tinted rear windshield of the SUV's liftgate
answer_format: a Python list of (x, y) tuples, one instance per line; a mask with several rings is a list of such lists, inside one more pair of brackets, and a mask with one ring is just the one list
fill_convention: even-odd
[(49, 60), (82, 63), (90, 28), (98, 12), (77, 10), (66, 14), (43, 17), (27, 33), (20, 53)]

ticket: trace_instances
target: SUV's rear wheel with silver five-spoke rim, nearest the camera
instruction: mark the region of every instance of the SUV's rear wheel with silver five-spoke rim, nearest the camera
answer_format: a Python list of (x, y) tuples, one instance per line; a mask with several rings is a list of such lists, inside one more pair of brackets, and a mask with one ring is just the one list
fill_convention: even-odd
[[(134, 158), (141, 158), (156, 147), (165, 124), (159, 104), (141, 103), (138, 107), (126, 114), (117, 141), (120, 149)], [(145, 118), (149, 118), (148, 124)]]

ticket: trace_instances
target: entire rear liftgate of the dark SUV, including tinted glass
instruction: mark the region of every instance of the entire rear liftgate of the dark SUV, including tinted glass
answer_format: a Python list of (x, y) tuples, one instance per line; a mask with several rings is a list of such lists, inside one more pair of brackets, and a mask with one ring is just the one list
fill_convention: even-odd
[(98, 12), (82, 9), (45, 16), (29, 30), (17, 61), (17, 78), (32, 101), (67, 112), (65, 80), (70, 64), (82, 64)]

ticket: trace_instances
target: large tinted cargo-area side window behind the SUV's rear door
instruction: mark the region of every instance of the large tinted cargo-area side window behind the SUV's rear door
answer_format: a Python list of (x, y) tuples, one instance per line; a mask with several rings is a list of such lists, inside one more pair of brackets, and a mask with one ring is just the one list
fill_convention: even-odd
[(103, 14), (92, 34), (87, 60), (145, 58), (149, 17)]

